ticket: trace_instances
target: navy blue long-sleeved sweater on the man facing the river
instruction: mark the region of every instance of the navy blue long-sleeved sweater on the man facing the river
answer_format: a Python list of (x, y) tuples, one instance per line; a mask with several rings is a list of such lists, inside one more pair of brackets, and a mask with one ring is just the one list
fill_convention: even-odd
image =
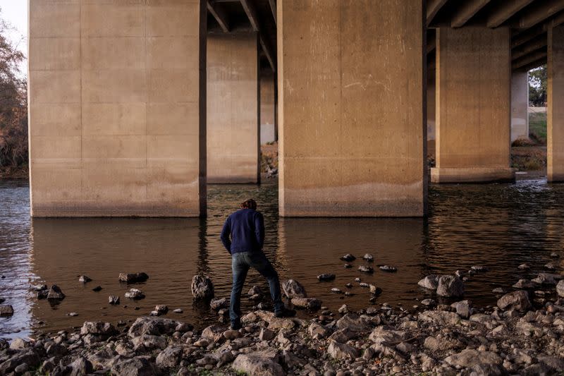
[(261, 251), (264, 245), (262, 214), (252, 209), (241, 209), (231, 214), (221, 230), (221, 243), (231, 255)]

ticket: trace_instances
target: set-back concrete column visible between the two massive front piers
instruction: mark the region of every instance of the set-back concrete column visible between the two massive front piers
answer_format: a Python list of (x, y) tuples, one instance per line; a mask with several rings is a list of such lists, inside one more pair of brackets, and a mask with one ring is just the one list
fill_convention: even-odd
[(257, 45), (255, 32), (208, 35), (208, 183), (260, 179)]

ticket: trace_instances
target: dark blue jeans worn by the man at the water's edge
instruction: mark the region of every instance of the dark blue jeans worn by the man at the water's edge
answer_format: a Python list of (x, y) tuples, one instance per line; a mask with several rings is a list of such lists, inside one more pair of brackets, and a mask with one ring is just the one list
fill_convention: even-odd
[(274, 312), (284, 310), (284, 303), (280, 293), (280, 281), (274, 267), (262, 252), (240, 252), (231, 256), (231, 268), (233, 269), (233, 289), (231, 289), (231, 301), (229, 305), (229, 316), (231, 323), (240, 323), (241, 317), (241, 291), (247, 278), (247, 272), (252, 267), (262, 277), (269, 281), (270, 295), (274, 302)]

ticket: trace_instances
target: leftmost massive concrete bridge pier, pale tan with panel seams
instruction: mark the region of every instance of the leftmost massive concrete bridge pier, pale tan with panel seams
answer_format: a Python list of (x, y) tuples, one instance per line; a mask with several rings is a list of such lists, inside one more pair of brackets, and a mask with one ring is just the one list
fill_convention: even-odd
[(197, 0), (30, 1), (34, 217), (200, 214), (205, 12)]

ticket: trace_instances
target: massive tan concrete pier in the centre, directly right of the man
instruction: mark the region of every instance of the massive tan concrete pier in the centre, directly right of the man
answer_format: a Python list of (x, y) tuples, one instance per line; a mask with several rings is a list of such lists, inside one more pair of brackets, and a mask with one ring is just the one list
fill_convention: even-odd
[(422, 1), (277, 10), (281, 216), (423, 215)]

